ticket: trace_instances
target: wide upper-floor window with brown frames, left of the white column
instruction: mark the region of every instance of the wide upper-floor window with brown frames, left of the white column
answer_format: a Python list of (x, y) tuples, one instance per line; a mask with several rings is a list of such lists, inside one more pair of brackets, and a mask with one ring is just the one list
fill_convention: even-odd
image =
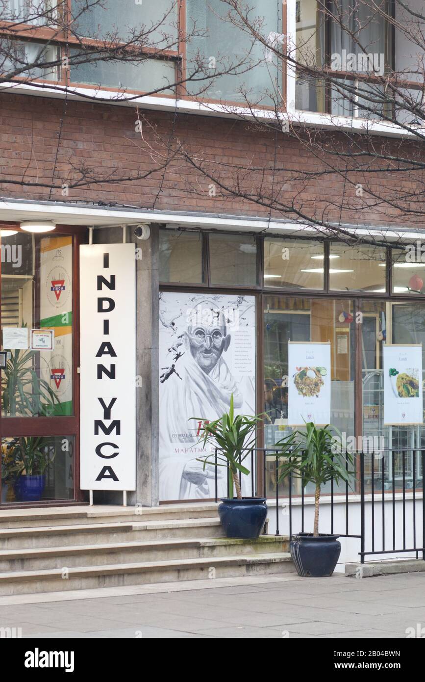
[(285, 99), (268, 48), (283, 35), (280, 1), (0, 0), (0, 35), (5, 81), (230, 105)]

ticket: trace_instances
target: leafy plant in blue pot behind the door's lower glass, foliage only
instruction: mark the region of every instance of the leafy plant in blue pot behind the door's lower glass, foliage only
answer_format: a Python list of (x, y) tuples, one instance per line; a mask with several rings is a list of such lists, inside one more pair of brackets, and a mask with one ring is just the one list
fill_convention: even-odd
[(49, 446), (54, 443), (48, 436), (20, 436), (12, 445), (13, 464), (9, 464), (10, 475), (40, 476), (46, 473), (54, 460)]

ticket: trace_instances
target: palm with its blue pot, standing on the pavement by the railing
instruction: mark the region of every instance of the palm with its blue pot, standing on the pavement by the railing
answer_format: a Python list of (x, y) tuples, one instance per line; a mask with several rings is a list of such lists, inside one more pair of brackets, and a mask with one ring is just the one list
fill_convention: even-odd
[[(336, 436), (335, 436), (336, 434)], [(332, 576), (341, 554), (339, 535), (319, 533), (320, 488), (328, 481), (335, 484), (351, 483), (353, 471), (349, 464), (353, 456), (341, 451), (342, 438), (334, 426), (318, 427), (313, 422), (305, 425), (305, 431), (296, 431), (297, 444), (294, 449), (287, 447), (287, 439), (279, 441), (282, 447), (279, 459), (279, 481), (289, 474), (300, 478), (302, 486), (312, 483), (315, 486), (315, 514), (313, 533), (298, 533), (291, 538), (290, 552), (296, 565), (298, 575), (302, 577), (322, 578)]]

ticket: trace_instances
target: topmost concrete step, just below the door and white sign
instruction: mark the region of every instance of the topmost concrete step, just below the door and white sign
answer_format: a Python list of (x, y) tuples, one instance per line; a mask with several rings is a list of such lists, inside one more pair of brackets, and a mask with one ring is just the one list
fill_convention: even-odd
[(219, 503), (178, 503), (160, 507), (120, 507), (97, 505), (95, 507), (44, 507), (43, 509), (1, 509), (0, 529), (63, 526), (65, 524), (117, 523), (163, 521), (179, 518), (210, 518), (217, 514)]

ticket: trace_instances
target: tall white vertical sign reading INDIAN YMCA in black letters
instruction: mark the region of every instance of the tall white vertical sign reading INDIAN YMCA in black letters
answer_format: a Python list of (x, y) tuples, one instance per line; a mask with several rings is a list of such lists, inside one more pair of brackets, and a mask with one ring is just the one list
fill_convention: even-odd
[(136, 489), (135, 245), (80, 246), (80, 486)]

